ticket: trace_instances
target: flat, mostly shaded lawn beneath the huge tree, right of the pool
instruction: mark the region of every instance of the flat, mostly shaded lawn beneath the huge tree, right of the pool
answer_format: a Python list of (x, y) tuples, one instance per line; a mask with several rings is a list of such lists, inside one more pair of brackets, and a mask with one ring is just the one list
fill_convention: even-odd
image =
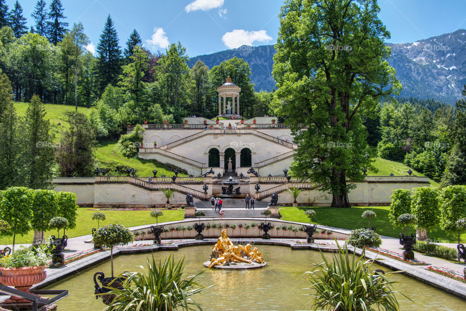
[[(364, 211), (371, 210), (377, 214), (376, 218), (370, 220), (370, 226), (375, 226), (377, 232), (381, 235), (398, 237), (399, 233), (403, 232), (401, 228), (394, 229), (388, 222), (388, 206), (371, 206), (362, 207), (356, 206), (348, 209), (333, 208), (333, 207), (281, 207), (280, 213), (282, 220), (309, 222), (309, 218), (304, 214), (306, 210), (312, 209), (316, 211), (316, 216), (313, 217), (312, 223), (317, 225), (331, 226), (343, 229), (358, 229), (363, 226), (367, 227), (367, 219), (362, 218), (361, 214)], [(414, 229), (409, 229), (409, 233), (415, 233)], [(440, 228), (435, 228), (430, 232), (431, 239), (438, 239), (438, 242), (456, 243), (458, 237), (453, 234), (448, 234)], [(466, 233), (461, 235), (461, 241), (466, 242)]]

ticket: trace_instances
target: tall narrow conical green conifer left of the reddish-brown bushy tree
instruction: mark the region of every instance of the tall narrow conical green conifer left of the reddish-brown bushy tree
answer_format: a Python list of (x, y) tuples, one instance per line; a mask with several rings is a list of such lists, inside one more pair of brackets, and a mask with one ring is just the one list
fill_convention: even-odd
[(33, 189), (49, 189), (52, 181), (53, 140), (50, 135), (50, 122), (45, 119), (45, 107), (37, 95), (33, 95), (26, 110), (24, 122), (24, 151), (27, 159), (23, 183)]

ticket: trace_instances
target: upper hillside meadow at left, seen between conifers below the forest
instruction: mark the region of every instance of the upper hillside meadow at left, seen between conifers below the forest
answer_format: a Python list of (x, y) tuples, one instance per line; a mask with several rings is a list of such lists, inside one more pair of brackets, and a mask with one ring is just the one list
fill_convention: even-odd
[[(28, 103), (15, 102), (15, 108), (18, 116), (25, 116)], [(68, 128), (66, 113), (75, 111), (75, 106), (45, 104), (45, 111), (45, 118), (50, 120), (50, 132), (55, 135), (55, 141), (59, 141), (61, 133)], [(78, 112), (89, 115), (90, 109), (78, 107)]]

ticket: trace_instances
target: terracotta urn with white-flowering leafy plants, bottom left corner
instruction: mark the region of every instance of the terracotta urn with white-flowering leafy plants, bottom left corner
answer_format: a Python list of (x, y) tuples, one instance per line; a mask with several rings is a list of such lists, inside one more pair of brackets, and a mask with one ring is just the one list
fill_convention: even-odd
[[(13, 254), (0, 259), (0, 283), (13, 286), (21, 292), (32, 294), (29, 291), (31, 287), (47, 277), (45, 268), (47, 268), (49, 259), (50, 246), (46, 244), (34, 248), (20, 246)], [(15, 296), (3, 302), (30, 303), (29, 300)]]

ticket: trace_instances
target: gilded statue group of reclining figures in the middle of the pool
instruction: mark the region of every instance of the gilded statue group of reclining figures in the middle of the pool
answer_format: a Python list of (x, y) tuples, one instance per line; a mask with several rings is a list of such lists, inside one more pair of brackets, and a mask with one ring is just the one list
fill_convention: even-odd
[(223, 229), (221, 237), (218, 238), (216, 245), (212, 248), (208, 267), (228, 266), (231, 263), (238, 264), (239, 262), (251, 265), (258, 263), (262, 266), (265, 263), (262, 253), (257, 247), (251, 248), (250, 244), (234, 246), (232, 240), (227, 236), (227, 230)]

